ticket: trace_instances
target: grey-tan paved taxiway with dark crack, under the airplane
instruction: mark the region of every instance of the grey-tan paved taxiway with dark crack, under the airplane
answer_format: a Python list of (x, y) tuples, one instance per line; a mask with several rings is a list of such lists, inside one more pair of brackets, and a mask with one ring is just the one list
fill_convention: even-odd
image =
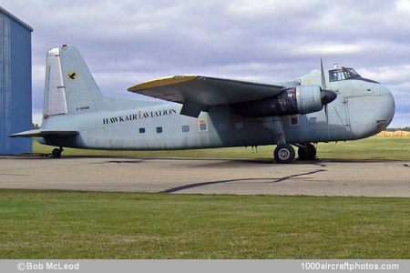
[(0, 157), (0, 188), (410, 197), (410, 162)]

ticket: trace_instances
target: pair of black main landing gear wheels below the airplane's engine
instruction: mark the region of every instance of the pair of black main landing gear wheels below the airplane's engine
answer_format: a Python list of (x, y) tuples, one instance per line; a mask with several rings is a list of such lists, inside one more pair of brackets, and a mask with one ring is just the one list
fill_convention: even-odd
[[(312, 143), (297, 146), (300, 160), (316, 159), (316, 147)], [(279, 144), (273, 151), (273, 157), (277, 163), (291, 163), (295, 157), (294, 148), (286, 143)]]

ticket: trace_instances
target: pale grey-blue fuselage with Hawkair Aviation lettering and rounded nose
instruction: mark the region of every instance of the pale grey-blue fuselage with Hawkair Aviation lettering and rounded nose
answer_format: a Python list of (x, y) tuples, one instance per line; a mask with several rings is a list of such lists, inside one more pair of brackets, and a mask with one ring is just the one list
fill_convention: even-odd
[[(288, 85), (319, 84), (318, 74)], [(245, 147), (277, 144), (281, 131), (289, 144), (344, 141), (384, 130), (395, 113), (395, 102), (381, 84), (363, 80), (330, 82), (337, 98), (324, 109), (306, 115), (243, 117), (230, 106), (213, 106), (198, 118), (179, 115), (181, 105), (164, 103), (127, 110), (50, 116), (44, 128), (77, 130), (77, 136), (40, 138), (46, 145), (118, 150)], [(282, 126), (278, 128), (278, 125)]]

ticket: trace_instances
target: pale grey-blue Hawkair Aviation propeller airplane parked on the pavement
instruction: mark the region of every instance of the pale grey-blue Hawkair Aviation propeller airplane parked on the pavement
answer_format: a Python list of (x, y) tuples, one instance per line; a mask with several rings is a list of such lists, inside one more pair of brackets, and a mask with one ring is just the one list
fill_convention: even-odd
[[(128, 88), (153, 99), (104, 96), (74, 46), (46, 55), (40, 129), (11, 135), (41, 144), (106, 150), (167, 150), (276, 145), (277, 163), (316, 159), (319, 142), (383, 131), (395, 115), (386, 86), (354, 68), (313, 71), (260, 84), (210, 76), (167, 76)], [(142, 97), (142, 96), (141, 96)]]

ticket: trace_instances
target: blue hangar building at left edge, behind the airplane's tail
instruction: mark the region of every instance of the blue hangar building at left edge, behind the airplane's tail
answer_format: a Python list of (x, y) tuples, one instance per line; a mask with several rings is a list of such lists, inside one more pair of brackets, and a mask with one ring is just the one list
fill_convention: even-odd
[(32, 128), (31, 33), (0, 6), (0, 155), (31, 153), (31, 138), (11, 134)]

